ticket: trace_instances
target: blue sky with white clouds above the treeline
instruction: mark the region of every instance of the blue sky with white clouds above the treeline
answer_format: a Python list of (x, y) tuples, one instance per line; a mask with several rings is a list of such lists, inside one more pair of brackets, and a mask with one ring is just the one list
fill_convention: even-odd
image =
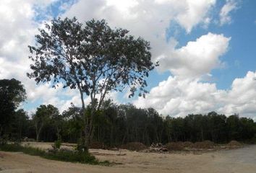
[(76, 90), (27, 78), (27, 45), (54, 17), (106, 19), (112, 28), (150, 41), (152, 61), (160, 65), (150, 72), (145, 99), (127, 98), (128, 90), (108, 98), (164, 116), (216, 111), (256, 120), (255, 9), (251, 0), (1, 0), (0, 79), (22, 81), (27, 100), (21, 107), (28, 112), (41, 104), (60, 111), (71, 102), (80, 106)]

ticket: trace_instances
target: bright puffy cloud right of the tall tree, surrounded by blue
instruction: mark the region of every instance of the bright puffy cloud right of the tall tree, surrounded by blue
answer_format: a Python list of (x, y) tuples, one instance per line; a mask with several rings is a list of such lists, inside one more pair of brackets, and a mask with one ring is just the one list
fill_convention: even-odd
[(182, 48), (171, 49), (158, 57), (161, 71), (169, 70), (181, 78), (198, 78), (223, 66), (220, 58), (229, 48), (231, 37), (208, 33)]

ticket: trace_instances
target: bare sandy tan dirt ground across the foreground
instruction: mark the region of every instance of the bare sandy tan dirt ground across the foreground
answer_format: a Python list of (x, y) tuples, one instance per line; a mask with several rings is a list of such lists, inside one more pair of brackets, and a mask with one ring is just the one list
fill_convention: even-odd
[[(50, 143), (30, 143), (30, 146), (50, 148)], [(72, 147), (72, 146), (64, 146)], [(211, 151), (207, 153), (142, 153), (122, 150), (108, 151), (91, 149), (90, 152), (100, 160), (115, 161), (114, 166), (76, 164), (62, 161), (52, 161), (29, 156), (22, 153), (0, 151), (0, 173), (4, 172), (83, 172), (83, 173), (117, 173), (117, 172), (218, 172), (218, 173), (255, 173), (256, 146), (245, 146), (228, 151)]]

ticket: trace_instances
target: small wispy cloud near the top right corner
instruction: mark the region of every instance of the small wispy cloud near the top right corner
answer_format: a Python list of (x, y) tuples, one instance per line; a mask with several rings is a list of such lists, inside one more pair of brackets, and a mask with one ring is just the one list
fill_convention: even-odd
[(238, 3), (236, 0), (226, 0), (226, 4), (221, 8), (220, 25), (230, 24), (232, 22), (230, 13), (238, 9)]

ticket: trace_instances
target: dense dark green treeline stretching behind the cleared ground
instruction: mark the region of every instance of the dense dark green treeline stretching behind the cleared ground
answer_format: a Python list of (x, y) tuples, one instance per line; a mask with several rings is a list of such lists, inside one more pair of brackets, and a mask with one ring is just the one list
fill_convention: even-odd
[[(90, 112), (90, 106), (87, 107)], [(37, 141), (77, 143), (82, 138), (82, 110), (72, 105), (59, 113), (53, 105), (40, 105), (32, 117), (17, 110), (5, 129), (8, 138)], [(93, 142), (103, 146), (121, 146), (128, 142), (168, 143), (173, 141), (205, 141), (227, 143), (247, 141), (256, 134), (256, 123), (239, 115), (187, 115), (170, 117), (159, 115), (153, 108), (139, 109), (134, 105), (116, 105), (111, 100), (103, 103), (94, 120)]]

